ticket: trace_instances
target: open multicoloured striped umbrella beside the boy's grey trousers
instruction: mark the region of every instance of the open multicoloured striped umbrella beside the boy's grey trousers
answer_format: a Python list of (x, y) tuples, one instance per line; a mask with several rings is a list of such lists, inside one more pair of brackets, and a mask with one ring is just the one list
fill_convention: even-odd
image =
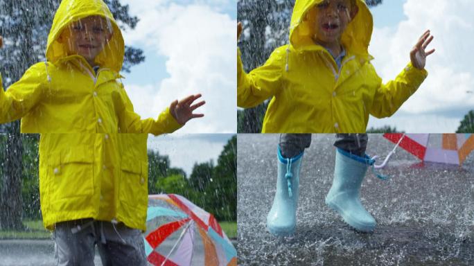
[(149, 195), (146, 220), (152, 265), (237, 265), (237, 251), (216, 218), (185, 197)]

